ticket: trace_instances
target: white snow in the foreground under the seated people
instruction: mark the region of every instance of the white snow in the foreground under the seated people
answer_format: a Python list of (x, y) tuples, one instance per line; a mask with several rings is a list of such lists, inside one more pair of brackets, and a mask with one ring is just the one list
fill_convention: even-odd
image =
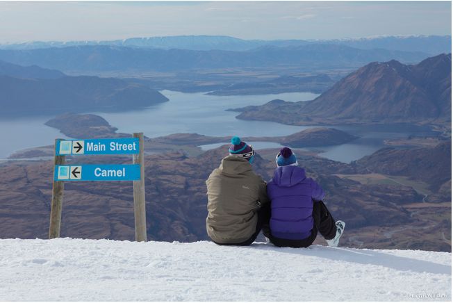
[(452, 254), (0, 240), (0, 301), (450, 301)]

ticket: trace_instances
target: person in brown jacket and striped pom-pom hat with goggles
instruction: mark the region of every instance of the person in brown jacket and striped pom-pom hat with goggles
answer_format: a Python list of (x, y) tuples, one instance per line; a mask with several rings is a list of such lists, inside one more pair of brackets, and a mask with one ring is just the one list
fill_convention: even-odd
[(255, 151), (233, 137), (229, 156), (206, 180), (206, 231), (218, 245), (250, 245), (269, 221), (266, 183), (252, 170)]

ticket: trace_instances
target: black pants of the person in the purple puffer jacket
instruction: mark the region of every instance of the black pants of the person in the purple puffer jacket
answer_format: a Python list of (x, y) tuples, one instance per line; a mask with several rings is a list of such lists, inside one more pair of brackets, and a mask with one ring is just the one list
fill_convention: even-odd
[(326, 240), (335, 238), (336, 235), (336, 224), (331, 213), (327, 209), (324, 202), (313, 202), (313, 221), (314, 226), (311, 230), (311, 235), (308, 238), (302, 240), (289, 240), (281, 239), (272, 236), (269, 228), (269, 224), (263, 226), (263, 234), (269, 238), (270, 242), (275, 246), (279, 247), (308, 247), (313, 244), (318, 231)]

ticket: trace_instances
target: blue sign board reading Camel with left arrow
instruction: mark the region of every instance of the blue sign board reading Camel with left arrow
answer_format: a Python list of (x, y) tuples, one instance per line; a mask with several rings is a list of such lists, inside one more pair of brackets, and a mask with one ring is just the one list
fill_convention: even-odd
[(140, 165), (55, 165), (55, 181), (137, 181)]

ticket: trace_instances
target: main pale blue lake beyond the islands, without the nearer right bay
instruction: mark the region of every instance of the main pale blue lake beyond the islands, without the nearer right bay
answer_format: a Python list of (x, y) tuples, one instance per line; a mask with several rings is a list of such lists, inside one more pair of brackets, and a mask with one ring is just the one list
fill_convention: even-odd
[[(201, 133), (208, 136), (261, 136), (264, 131), (281, 136), (295, 133), (299, 126), (286, 126), (274, 122), (247, 122), (236, 120), (238, 113), (227, 108), (261, 105), (272, 99), (303, 101), (318, 95), (309, 92), (256, 96), (210, 96), (204, 93), (183, 93), (163, 90), (170, 101), (145, 110), (122, 113), (95, 113), (104, 117), (119, 131), (142, 131), (150, 138), (171, 133)], [(6, 119), (0, 117), (0, 159), (13, 152), (30, 147), (53, 145), (56, 138), (66, 138), (60, 131), (44, 125), (50, 115)]]

